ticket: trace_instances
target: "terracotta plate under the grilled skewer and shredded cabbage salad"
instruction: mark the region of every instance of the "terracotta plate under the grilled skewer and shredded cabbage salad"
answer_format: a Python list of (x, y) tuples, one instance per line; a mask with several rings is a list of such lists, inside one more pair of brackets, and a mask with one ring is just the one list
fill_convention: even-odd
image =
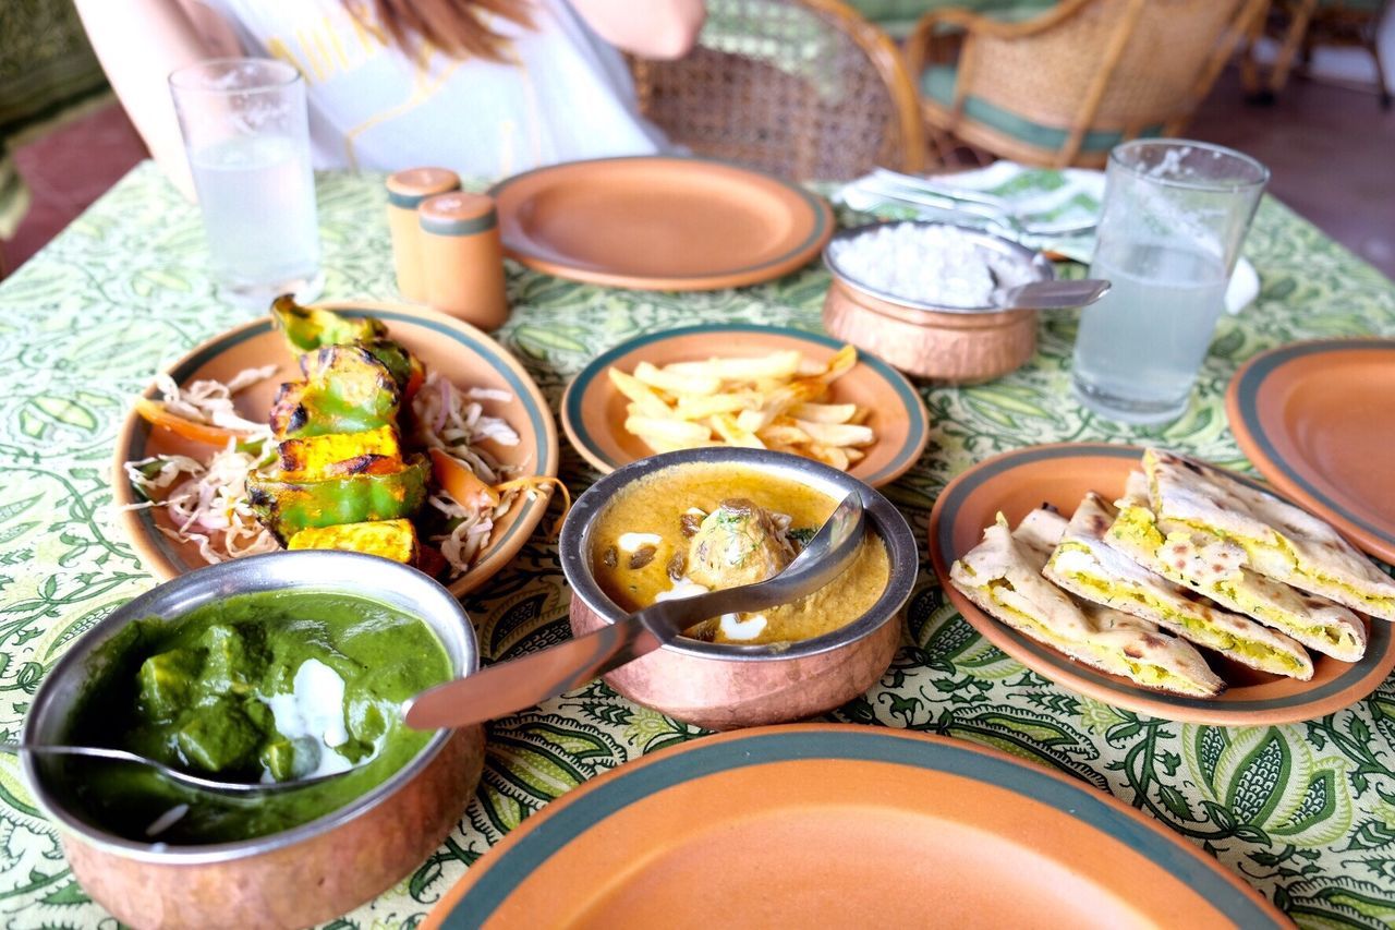
[[(498, 342), (469, 324), (425, 310), (364, 302), (321, 306), (350, 317), (378, 317), (388, 324), (388, 334), (393, 339), (406, 345), (428, 369), (446, 374), (459, 387), (509, 391), (513, 395), (512, 401), (483, 404), (487, 412), (508, 420), (520, 441), (515, 447), (494, 447), (492, 451), (505, 462), (522, 464), (526, 473), (557, 475), (557, 427), (552, 425), (547, 401), (527, 371)], [(285, 338), (272, 330), (271, 317), (213, 337), (176, 362), (169, 369), (169, 376), (176, 384), (198, 378), (226, 381), (243, 369), (273, 362), (280, 366), (282, 378), (252, 385), (239, 395), (240, 413), (251, 420), (264, 420), (280, 380), (290, 380), (299, 374)], [(146, 397), (159, 397), (159, 392), (151, 387)], [(141, 500), (126, 478), (123, 468), (126, 462), (158, 454), (204, 458), (208, 452), (208, 445), (181, 440), (167, 430), (152, 430), (145, 420), (131, 413), (116, 440), (112, 472), (113, 503), (120, 507)], [(543, 518), (548, 499), (550, 494), (538, 494), (533, 500), (520, 500), (515, 504), (513, 510), (495, 524), (490, 550), (469, 573), (448, 585), (451, 592), (463, 595), (473, 591), (508, 564)], [(162, 507), (123, 511), (120, 522), (145, 568), (156, 578), (173, 578), (206, 564), (197, 546), (179, 543), (159, 531), (159, 526), (172, 526)]]

